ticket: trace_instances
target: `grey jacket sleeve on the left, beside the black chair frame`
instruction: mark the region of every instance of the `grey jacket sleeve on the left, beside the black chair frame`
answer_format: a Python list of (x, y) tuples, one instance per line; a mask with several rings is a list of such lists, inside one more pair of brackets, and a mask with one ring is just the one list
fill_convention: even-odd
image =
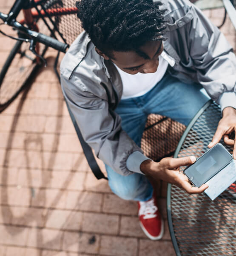
[[(75, 84), (63, 76), (61, 86), (85, 142), (94, 149), (97, 157), (121, 175), (130, 175), (133, 173), (131, 171), (140, 172), (139, 168), (132, 170), (133, 163), (139, 167), (142, 161), (148, 158), (122, 130), (121, 118), (109, 109), (108, 101), (82, 90), (82, 85)], [(128, 158), (130, 169), (126, 163)]]

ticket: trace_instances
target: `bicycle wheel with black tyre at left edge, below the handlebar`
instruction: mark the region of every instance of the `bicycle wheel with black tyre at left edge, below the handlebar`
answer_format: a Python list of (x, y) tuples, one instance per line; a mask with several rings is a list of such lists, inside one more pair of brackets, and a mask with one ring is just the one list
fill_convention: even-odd
[(0, 72), (0, 112), (3, 111), (27, 85), (28, 79), (39, 67), (29, 44), (17, 41)]

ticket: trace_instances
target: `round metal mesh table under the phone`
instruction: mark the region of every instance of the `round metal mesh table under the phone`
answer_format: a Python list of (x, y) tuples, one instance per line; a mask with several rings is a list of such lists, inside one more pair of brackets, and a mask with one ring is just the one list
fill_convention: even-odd
[[(210, 100), (186, 128), (174, 157), (204, 153), (220, 119), (220, 108)], [(236, 255), (236, 198), (229, 190), (211, 201), (205, 193), (189, 195), (168, 184), (167, 215), (177, 256)]]

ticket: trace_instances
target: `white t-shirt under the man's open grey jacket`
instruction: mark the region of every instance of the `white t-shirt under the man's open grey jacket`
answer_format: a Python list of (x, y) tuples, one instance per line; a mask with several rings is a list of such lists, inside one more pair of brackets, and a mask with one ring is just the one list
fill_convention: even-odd
[(137, 73), (135, 75), (131, 75), (125, 73), (116, 65), (115, 67), (119, 72), (123, 84), (123, 93), (121, 99), (129, 99), (142, 96), (151, 90), (165, 75), (168, 62), (160, 55), (159, 66), (156, 72), (147, 74)]

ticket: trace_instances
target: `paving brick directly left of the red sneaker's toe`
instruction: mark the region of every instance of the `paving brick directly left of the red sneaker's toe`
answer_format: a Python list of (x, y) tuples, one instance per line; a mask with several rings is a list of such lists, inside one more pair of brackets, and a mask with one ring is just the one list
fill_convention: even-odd
[(120, 224), (120, 235), (146, 238), (146, 235), (143, 233), (139, 225), (138, 217), (122, 216)]

